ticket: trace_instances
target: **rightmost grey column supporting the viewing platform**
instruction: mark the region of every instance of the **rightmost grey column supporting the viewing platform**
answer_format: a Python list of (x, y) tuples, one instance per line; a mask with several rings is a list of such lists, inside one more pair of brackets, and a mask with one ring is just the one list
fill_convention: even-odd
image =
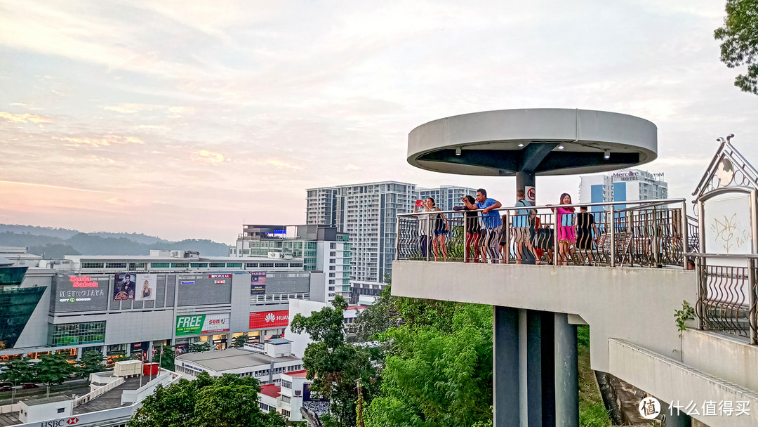
[(555, 328), (556, 426), (579, 427), (579, 362), (576, 326), (563, 313), (553, 315)]

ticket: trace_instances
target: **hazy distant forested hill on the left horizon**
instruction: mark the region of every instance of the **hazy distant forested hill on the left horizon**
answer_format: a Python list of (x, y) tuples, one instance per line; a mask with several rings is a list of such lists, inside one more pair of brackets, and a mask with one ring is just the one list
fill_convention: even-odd
[(229, 246), (206, 239), (177, 242), (138, 233), (81, 233), (76, 230), (0, 224), (0, 246), (24, 246), (45, 259), (65, 255), (149, 255), (150, 250), (197, 250), (203, 256), (227, 256)]

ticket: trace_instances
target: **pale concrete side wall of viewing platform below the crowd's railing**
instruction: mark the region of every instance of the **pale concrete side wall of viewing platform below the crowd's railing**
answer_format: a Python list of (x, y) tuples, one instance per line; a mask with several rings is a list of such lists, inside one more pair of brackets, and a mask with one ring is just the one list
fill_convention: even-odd
[(694, 272), (666, 268), (396, 261), (392, 284), (400, 297), (581, 316), (590, 325), (592, 369), (603, 372), (609, 338), (660, 354), (678, 351), (673, 310), (697, 300)]

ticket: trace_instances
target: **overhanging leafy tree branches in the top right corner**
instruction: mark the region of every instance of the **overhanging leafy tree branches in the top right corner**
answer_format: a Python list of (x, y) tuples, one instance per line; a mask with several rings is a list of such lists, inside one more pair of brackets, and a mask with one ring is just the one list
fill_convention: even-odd
[(721, 61), (728, 68), (747, 65), (735, 86), (758, 95), (758, 0), (727, 0), (724, 25), (713, 32), (721, 41)]

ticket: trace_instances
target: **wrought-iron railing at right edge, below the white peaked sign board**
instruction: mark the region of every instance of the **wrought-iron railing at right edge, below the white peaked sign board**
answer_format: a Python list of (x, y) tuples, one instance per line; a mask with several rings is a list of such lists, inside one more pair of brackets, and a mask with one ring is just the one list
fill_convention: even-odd
[(688, 253), (696, 259), (698, 328), (758, 344), (758, 255)]

